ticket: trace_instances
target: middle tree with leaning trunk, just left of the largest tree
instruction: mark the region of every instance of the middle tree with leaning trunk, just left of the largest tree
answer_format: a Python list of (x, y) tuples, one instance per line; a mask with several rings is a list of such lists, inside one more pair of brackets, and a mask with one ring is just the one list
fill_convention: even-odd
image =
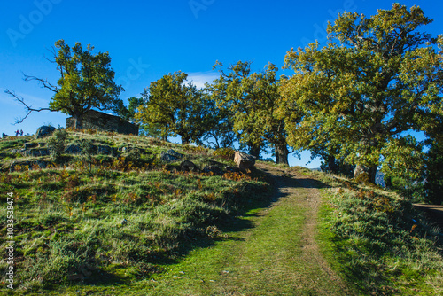
[(214, 66), (221, 75), (209, 90), (217, 106), (230, 113), (232, 129), (240, 142), (260, 147), (267, 141), (275, 148), (276, 162), (288, 164), (284, 120), (275, 114), (280, 98), (277, 67), (269, 63), (263, 72), (251, 73), (251, 62), (238, 61), (225, 74), (222, 66), (218, 62)]

